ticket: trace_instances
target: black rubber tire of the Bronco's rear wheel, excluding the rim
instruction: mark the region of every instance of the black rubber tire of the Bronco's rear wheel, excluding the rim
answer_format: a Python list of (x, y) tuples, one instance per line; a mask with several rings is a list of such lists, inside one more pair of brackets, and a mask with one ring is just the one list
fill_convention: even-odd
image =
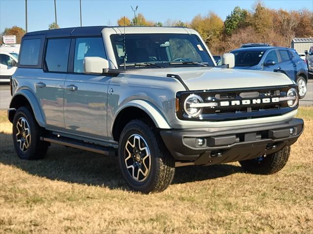
[[(30, 131), (29, 148), (25, 151), (20, 148), (20, 143), (18, 142), (16, 136), (19, 131), (17, 128), (17, 124), (18, 121), (21, 120), (21, 118), (24, 118), (27, 121)], [(36, 160), (45, 157), (47, 149), (49, 147), (49, 143), (40, 140), (41, 131), (42, 129), (37, 124), (32, 111), (25, 106), (18, 108), (13, 118), (12, 136), (14, 148), (21, 159)]]

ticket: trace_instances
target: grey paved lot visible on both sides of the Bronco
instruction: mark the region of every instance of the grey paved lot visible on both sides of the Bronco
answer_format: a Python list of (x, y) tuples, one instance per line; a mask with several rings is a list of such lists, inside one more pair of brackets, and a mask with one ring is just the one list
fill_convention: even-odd
[[(7, 109), (11, 100), (9, 85), (0, 85), (0, 109)], [(313, 106), (313, 80), (309, 80), (308, 92), (300, 101), (300, 106)]]

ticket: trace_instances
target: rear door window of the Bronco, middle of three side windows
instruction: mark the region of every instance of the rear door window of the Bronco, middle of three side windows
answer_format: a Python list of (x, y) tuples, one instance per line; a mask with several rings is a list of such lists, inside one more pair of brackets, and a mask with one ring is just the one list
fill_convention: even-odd
[(45, 52), (47, 71), (67, 72), (70, 39), (50, 39)]

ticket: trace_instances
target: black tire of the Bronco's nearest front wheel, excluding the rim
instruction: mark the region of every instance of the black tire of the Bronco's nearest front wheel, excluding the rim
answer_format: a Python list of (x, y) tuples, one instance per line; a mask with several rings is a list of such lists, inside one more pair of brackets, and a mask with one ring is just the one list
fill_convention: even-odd
[[(125, 146), (134, 135), (143, 138), (151, 155), (151, 168), (144, 181), (136, 181), (126, 167), (125, 159), (129, 153), (126, 151)], [(160, 192), (172, 183), (175, 173), (174, 158), (166, 149), (156, 129), (142, 120), (132, 120), (123, 129), (119, 139), (118, 158), (121, 172), (129, 187), (134, 191), (143, 193)]]

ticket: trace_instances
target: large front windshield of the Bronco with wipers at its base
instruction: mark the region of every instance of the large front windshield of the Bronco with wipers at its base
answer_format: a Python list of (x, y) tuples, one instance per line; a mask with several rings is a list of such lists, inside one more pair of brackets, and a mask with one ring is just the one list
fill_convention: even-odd
[[(111, 35), (118, 66), (124, 64), (124, 35)], [(213, 66), (209, 54), (196, 35), (189, 34), (126, 34), (126, 64), (169, 66), (176, 62), (196, 62)], [(197, 65), (179, 63), (178, 66)], [(199, 65), (199, 64), (198, 64)], [(156, 66), (155, 66), (156, 67)]]

